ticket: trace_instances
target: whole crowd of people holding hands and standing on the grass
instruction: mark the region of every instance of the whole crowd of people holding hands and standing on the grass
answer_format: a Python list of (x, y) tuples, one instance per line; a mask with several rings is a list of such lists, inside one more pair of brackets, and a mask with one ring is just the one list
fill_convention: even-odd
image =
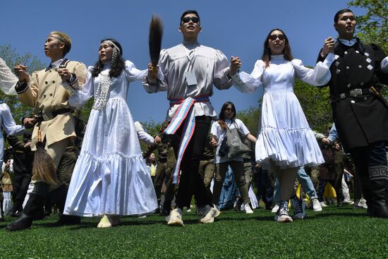
[[(6, 230), (28, 229), (42, 218), (47, 201), (49, 210), (51, 205), (59, 210), (58, 224), (100, 217), (97, 227), (107, 228), (123, 216), (153, 212), (166, 216), (171, 226), (184, 226), (183, 209), (190, 210), (194, 198), (199, 222), (212, 223), (221, 215), (229, 170), (239, 193), (234, 207), (247, 214), (254, 213), (261, 197), (275, 221), (303, 219), (305, 200), (315, 211), (332, 202), (324, 200), (330, 186), (337, 205), (349, 204), (345, 172), (354, 175), (355, 206), (368, 208), (368, 216), (387, 218), (388, 104), (380, 92), (388, 83), (388, 57), (377, 45), (354, 37), (351, 10), (335, 14), (334, 28), (338, 40), (325, 40), (314, 68), (293, 58), (289, 38), (276, 28), (265, 38), (253, 71), (240, 71), (238, 56), (228, 61), (218, 49), (198, 42), (202, 27), (193, 10), (180, 19), (183, 42), (162, 49), (156, 68), (150, 63), (139, 70), (110, 38), (99, 44), (95, 66), (86, 68), (65, 58), (71, 39), (58, 31), (44, 43), (50, 65), (31, 76), (23, 64), (12, 73), (0, 59), (1, 90), (16, 90), (20, 102), (32, 108), (23, 126), (16, 125), (6, 104), (0, 109), (15, 171), (10, 215), (18, 216)], [(333, 124), (328, 134), (310, 128), (293, 93), (296, 78), (329, 86)], [(126, 97), (134, 80), (142, 80), (149, 93), (167, 92), (170, 106), (157, 135), (132, 118)], [(236, 118), (233, 102), (225, 102), (217, 114), (210, 102), (213, 86), (248, 93), (263, 89), (257, 136)], [(77, 107), (90, 98), (94, 103), (85, 126)], [(23, 141), (13, 136), (23, 133)], [(3, 135), (0, 140), (4, 150)], [(142, 152), (139, 140), (148, 150)]]

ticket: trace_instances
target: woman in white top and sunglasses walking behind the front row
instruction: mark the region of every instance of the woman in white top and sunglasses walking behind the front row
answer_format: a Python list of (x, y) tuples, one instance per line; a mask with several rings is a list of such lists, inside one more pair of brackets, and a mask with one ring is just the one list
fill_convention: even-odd
[(244, 162), (243, 156), (237, 155), (236, 157), (231, 157), (229, 159), (228, 155), (220, 156), (220, 147), (222, 141), (226, 137), (226, 131), (238, 131), (238, 135), (243, 135), (248, 140), (253, 143), (256, 142), (256, 138), (250, 134), (248, 128), (243, 124), (243, 121), (236, 119), (236, 107), (234, 107), (233, 102), (225, 102), (222, 105), (221, 112), (219, 112), (219, 119), (214, 121), (212, 124), (212, 139), (210, 143), (217, 147), (214, 164), (216, 164), (215, 177), (214, 177), (214, 186), (213, 186), (213, 203), (218, 205), (219, 195), (221, 195), (222, 185), (224, 184), (225, 174), (228, 171), (228, 167), (231, 167), (231, 170), (234, 174), (234, 181), (238, 186), (238, 190), (241, 194), (241, 199), (243, 200), (243, 205), (241, 210), (245, 210), (247, 214), (253, 213), (253, 210), (250, 208), (250, 200), (248, 195), (248, 186), (245, 183), (245, 171), (244, 171)]

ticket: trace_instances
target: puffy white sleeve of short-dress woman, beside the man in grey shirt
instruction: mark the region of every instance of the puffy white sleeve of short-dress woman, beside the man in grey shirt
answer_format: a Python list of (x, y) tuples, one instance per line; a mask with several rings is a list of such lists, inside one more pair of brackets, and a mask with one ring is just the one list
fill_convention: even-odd
[(256, 88), (262, 85), (262, 73), (264, 71), (264, 62), (257, 60), (252, 73), (236, 73), (231, 76), (234, 87), (240, 92), (255, 92)]

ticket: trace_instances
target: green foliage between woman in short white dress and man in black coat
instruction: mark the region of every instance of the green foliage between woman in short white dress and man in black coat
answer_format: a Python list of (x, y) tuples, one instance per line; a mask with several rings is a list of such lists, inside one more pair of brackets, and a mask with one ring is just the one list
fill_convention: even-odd
[(296, 80), (293, 91), (301, 103), (310, 127), (317, 132), (326, 133), (333, 124), (329, 88), (317, 88)]

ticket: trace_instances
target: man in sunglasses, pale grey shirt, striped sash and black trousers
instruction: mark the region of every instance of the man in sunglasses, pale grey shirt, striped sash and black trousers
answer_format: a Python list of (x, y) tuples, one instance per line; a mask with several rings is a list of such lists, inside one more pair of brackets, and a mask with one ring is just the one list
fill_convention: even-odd
[[(217, 49), (198, 42), (202, 30), (197, 11), (185, 11), (181, 16), (179, 32), (183, 42), (162, 49), (159, 75), (152, 78), (152, 65), (143, 85), (147, 92), (167, 91), (170, 122), (164, 133), (171, 135), (176, 153), (173, 183), (178, 184), (176, 209), (166, 217), (169, 225), (183, 226), (182, 210), (194, 195), (200, 207), (200, 222), (212, 223), (219, 211), (212, 205), (212, 193), (198, 173), (200, 158), (205, 149), (210, 121), (217, 116), (210, 96), (213, 85), (219, 90), (231, 87), (230, 68), (226, 56)], [(236, 72), (234, 72), (236, 73)], [(181, 173), (180, 173), (181, 172)], [(179, 174), (180, 173), (180, 174)]]

